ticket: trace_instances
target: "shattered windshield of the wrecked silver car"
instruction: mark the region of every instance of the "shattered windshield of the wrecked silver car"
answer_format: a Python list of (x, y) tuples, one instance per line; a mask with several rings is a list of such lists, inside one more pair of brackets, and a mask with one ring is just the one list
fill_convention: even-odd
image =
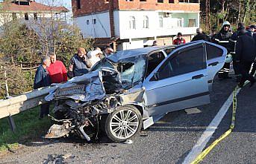
[(93, 70), (99, 70), (100, 68), (114, 68), (120, 73), (120, 80), (124, 87), (133, 86), (143, 79), (143, 75), (146, 68), (146, 56), (133, 56), (130, 58), (121, 59), (115, 63), (109, 59), (103, 59), (99, 62)]

